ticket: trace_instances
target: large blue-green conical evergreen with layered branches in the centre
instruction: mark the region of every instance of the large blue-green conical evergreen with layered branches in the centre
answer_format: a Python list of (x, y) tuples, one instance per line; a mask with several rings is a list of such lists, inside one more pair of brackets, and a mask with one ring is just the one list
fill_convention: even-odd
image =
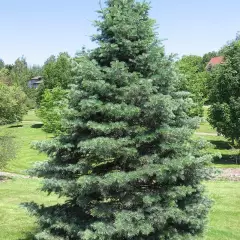
[(32, 174), (65, 197), (28, 204), (38, 240), (186, 240), (204, 229), (211, 157), (191, 140), (191, 101), (175, 88), (149, 8), (108, 0), (99, 12), (99, 47), (74, 65), (66, 133), (37, 144), (49, 160)]

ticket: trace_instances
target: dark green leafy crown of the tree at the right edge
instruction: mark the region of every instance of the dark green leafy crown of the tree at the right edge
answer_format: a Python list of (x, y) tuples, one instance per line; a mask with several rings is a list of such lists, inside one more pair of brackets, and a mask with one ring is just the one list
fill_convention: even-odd
[(224, 64), (215, 67), (209, 81), (209, 122), (225, 137), (238, 143), (240, 138), (240, 41), (221, 50)]

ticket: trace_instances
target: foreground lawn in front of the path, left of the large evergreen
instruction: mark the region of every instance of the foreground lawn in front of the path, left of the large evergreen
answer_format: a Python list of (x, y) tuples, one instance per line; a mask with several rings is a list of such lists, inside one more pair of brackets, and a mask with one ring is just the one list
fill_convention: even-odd
[(31, 233), (37, 229), (35, 218), (30, 216), (20, 203), (35, 201), (51, 205), (58, 198), (47, 196), (37, 190), (40, 180), (15, 179), (0, 182), (0, 239), (30, 240)]

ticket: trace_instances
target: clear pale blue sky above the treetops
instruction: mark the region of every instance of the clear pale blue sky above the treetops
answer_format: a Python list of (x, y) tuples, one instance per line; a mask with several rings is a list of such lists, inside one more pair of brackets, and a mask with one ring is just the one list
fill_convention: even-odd
[[(104, 0), (102, 0), (104, 2)], [(239, 0), (152, 0), (167, 53), (203, 55), (218, 50), (240, 31)], [(99, 0), (8, 0), (0, 3), (0, 58), (24, 55), (43, 64), (52, 54), (93, 48)]]

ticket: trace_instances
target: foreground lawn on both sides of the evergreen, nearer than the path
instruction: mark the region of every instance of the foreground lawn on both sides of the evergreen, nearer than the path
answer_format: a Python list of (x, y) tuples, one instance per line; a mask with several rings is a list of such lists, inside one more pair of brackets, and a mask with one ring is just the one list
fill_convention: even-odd
[[(206, 240), (240, 239), (240, 182), (215, 181), (206, 183), (215, 201), (210, 213)], [(35, 218), (19, 204), (36, 201), (47, 205), (60, 200), (37, 190), (40, 180), (16, 179), (0, 183), (0, 239), (30, 240), (37, 229)]]

